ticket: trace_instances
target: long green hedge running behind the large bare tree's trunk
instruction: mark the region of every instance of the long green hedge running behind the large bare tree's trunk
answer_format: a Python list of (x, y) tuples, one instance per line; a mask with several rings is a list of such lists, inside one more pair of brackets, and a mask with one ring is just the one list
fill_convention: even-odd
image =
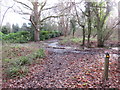
[[(0, 33), (0, 39), (4, 35), (2, 32)], [(47, 40), (54, 37), (61, 36), (62, 33), (59, 31), (40, 31), (40, 40)], [(34, 40), (33, 32), (29, 31), (19, 31), (16, 33), (9, 33), (3, 36), (3, 40), (11, 42), (11, 43), (26, 43), (28, 41)]]

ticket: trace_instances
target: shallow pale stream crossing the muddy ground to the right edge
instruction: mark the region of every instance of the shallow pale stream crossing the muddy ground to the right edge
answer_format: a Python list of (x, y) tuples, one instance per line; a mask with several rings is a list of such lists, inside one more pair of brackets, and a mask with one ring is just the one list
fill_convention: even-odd
[[(83, 48), (77, 48), (77, 47), (70, 47), (70, 46), (63, 46), (63, 45), (59, 45), (59, 40), (55, 39), (55, 40), (49, 40), (47, 42), (44, 43), (44, 45), (46, 45), (46, 50), (54, 52), (56, 54), (65, 54), (65, 53), (77, 53), (77, 54), (100, 54), (102, 56), (105, 55), (106, 52), (108, 51), (104, 51), (102, 53), (99, 52), (99, 50), (103, 50), (103, 48), (87, 48), (84, 47)], [(113, 50), (116, 50), (117, 52), (119, 51), (119, 47), (110, 47), (110, 51), (112, 52)], [(120, 54), (119, 53), (111, 53), (110, 52), (110, 56), (113, 57), (119, 57)]]

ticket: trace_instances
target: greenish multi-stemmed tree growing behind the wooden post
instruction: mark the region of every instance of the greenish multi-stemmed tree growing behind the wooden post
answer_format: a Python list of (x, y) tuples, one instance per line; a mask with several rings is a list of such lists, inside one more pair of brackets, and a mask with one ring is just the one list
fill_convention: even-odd
[(110, 2), (101, 0), (101, 2), (94, 2), (92, 7), (96, 15), (97, 45), (103, 47), (106, 40), (105, 23), (110, 14), (111, 5)]

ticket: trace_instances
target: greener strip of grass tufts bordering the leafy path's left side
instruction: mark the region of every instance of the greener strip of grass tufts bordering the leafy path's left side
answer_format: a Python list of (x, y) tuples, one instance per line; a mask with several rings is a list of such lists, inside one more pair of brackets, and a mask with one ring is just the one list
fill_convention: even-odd
[(20, 56), (15, 59), (3, 59), (5, 78), (9, 79), (25, 76), (28, 73), (29, 65), (44, 57), (45, 52), (40, 48), (38, 51), (27, 56)]

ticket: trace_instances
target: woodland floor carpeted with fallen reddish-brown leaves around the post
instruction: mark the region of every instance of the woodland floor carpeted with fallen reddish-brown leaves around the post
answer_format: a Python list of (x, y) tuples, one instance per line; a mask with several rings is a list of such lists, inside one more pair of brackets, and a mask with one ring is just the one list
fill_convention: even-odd
[[(55, 39), (56, 40), (56, 39)], [(53, 40), (50, 40), (53, 42)], [(45, 43), (50, 43), (45, 41)], [(40, 42), (30, 42), (29, 46), (40, 48)], [(28, 45), (28, 44), (27, 44)], [(34, 47), (33, 47), (34, 46)], [(58, 52), (44, 46), (47, 56), (29, 66), (29, 73), (23, 78), (3, 82), (3, 88), (119, 88), (120, 69), (118, 50), (91, 48), (79, 52)], [(60, 49), (60, 48), (59, 48)], [(63, 50), (64, 49), (60, 49)], [(102, 81), (105, 52), (110, 53), (109, 79)]]

